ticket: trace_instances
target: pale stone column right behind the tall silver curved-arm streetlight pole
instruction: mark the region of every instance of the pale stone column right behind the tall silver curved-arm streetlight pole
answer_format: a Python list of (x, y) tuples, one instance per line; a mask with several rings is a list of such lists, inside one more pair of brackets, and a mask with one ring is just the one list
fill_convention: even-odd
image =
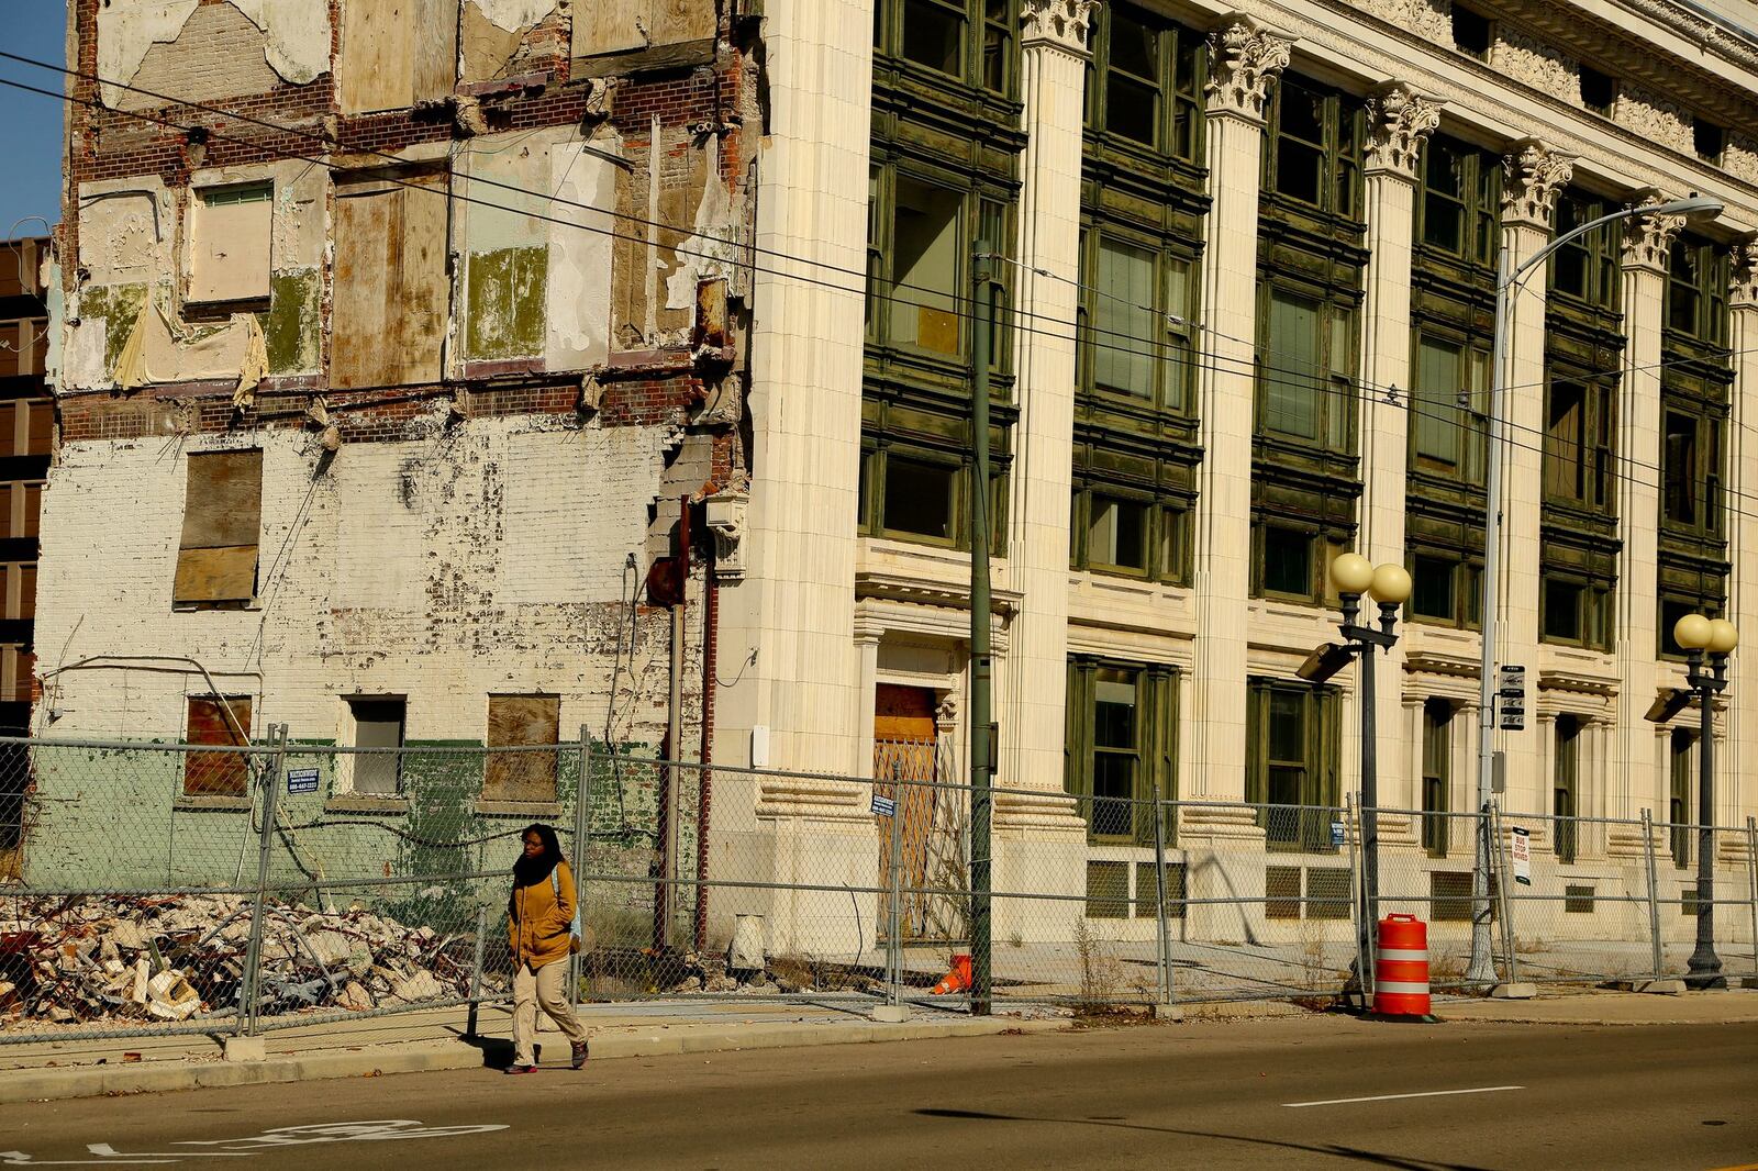
[[(1508, 267), (1515, 269), (1551, 243), (1556, 197), (1570, 178), (1573, 160), (1542, 142), (1515, 144), (1503, 160), (1501, 239), (1508, 250)], [(1501, 631), (1496, 665), (1519, 663), (1529, 680), (1528, 702), (1538, 675), (1538, 570), (1540, 508), (1544, 501), (1544, 309), (1545, 278), (1529, 273), (1508, 301), (1508, 346), (1505, 355), (1501, 410), (1507, 427), (1501, 461)], [(1486, 603), (1496, 601), (1494, 582)], [(1531, 709), (1528, 709), (1531, 710)], [(1501, 807), (1510, 811), (1545, 811), (1542, 800), (1549, 779), (1540, 777), (1535, 758), (1535, 731), (1501, 731), (1500, 744), (1508, 756), (1508, 791)], [(1473, 746), (1475, 747), (1475, 746)], [(1475, 775), (1475, 760), (1471, 763)], [(1536, 802), (1536, 804), (1535, 804)], [(1475, 804), (1475, 798), (1473, 798)]]

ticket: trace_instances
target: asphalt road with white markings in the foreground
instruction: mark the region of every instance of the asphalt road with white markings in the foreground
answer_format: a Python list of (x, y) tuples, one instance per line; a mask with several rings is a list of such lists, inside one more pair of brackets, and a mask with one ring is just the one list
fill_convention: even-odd
[(0, 1109), (0, 1167), (202, 1164), (1739, 1167), (1758, 1025), (1141, 1025)]

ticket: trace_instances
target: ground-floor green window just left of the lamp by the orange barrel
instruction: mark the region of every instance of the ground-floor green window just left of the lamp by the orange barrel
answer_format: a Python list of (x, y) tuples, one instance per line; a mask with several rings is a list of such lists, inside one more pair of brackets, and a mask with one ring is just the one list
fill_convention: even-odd
[(1273, 851), (1336, 853), (1341, 700), (1333, 687), (1250, 679), (1245, 800)]

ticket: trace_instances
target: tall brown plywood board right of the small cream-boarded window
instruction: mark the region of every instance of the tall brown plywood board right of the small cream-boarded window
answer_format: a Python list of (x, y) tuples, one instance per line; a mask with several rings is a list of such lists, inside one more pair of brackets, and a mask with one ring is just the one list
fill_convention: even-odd
[(450, 295), (445, 211), (443, 174), (336, 185), (332, 387), (440, 380)]

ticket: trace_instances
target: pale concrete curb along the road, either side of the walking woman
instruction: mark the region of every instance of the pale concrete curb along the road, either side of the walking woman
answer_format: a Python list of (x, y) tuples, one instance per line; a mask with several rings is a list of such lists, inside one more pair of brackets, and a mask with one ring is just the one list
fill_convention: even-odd
[[(816, 1048), (823, 1044), (872, 1044), (881, 1041), (925, 1041), (932, 1037), (992, 1037), (1004, 1032), (1034, 1034), (1065, 1029), (1058, 1020), (955, 1020), (946, 1023), (881, 1025), (868, 1022), (828, 1025), (740, 1025), (694, 1034), (663, 1034), (636, 1029), (592, 1039), (592, 1060), (626, 1057), (675, 1057), (680, 1053), (724, 1053), (738, 1050)], [(163, 1067), (84, 1066), (0, 1074), (0, 1104), (39, 1102), (118, 1094), (167, 1094), (236, 1085), (274, 1085), (334, 1078), (376, 1078), (399, 1073), (482, 1069), (482, 1051), (457, 1041), (385, 1046), (308, 1057), (271, 1057), (260, 1062), (163, 1062)]]

